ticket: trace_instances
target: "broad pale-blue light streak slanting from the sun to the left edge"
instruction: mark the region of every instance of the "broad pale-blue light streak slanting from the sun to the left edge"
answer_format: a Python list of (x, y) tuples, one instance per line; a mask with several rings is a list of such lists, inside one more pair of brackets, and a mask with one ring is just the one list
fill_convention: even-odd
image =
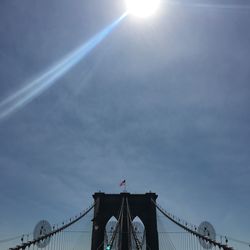
[(103, 39), (127, 16), (124, 13), (121, 17), (97, 33), (94, 37), (84, 43), (81, 47), (63, 58), (59, 63), (51, 67), (47, 72), (34, 81), (28, 83), (22, 89), (0, 102), (0, 119), (12, 114), (23, 107), (35, 97), (51, 87), (60, 77), (65, 75), (73, 66), (80, 62), (91, 52)]

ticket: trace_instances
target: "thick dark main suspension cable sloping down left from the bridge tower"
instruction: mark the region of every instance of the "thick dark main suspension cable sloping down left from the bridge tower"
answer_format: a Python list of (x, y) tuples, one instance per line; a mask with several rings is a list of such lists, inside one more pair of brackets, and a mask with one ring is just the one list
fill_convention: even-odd
[(52, 232), (45, 234), (37, 239), (34, 239), (32, 241), (28, 241), (26, 243), (23, 243), (21, 245), (18, 245), (16, 247), (10, 248), (9, 250), (24, 250), (26, 247), (30, 247), (32, 245), (35, 245), (37, 243), (39, 243), (40, 241), (46, 240), (48, 238), (50, 238), (51, 236), (56, 235), (57, 233), (63, 231), (64, 229), (70, 227), (71, 225), (75, 224), (77, 221), (79, 221), (80, 219), (82, 219), (85, 215), (87, 215), (95, 206), (95, 204), (91, 205), (84, 213), (80, 214), (80, 216), (76, 217), (74, 220), (70, 221), (67, 224), (64, 224), (63, 226), (59, 227), (58, 229), (53, 230)]

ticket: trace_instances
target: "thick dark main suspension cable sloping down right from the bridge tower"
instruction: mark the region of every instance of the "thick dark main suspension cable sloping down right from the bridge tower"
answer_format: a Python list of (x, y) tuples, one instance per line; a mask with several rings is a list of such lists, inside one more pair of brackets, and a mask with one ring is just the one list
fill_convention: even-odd
[(217, 246), (219, 248), (222, 248), (223, 250), (233, 250), (233, 248), (224, 245), (222, 243), (219, 243), (215, 240), (212, 240), (196, 231), (194, 231), (193, 229), (188, 228), (186, 225), (181, 224), (180, 222), (178, 222), (177, 220), (175, 220), (174, 218), (172, 218), (171, 216), (169, 216), (161, 207), (158, 206), (158, 204), (151, 199), (151, 201), (153, 202), (153, 204), (156, 206), (156, 208), (165, 216), (167, 217), (170, 221), (172, 221), (173, 223), (175, 223), (177, 226), (181, 227), (182, 229), (184, 229), (185, 231), (187, 231), (188, 233), (191, 233), (193, 235), (195, 235), (196, 237), (198, 237), (199, 239), (202, 239), (206, 242), (209, 242), (210, 244)]

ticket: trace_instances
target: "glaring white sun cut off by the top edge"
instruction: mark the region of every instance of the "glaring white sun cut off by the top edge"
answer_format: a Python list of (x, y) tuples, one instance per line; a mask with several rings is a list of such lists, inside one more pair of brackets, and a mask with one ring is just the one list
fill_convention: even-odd
[(160, 0), (125, 0), (129, 14), (148, 17), (155, 13), (159, 7)]

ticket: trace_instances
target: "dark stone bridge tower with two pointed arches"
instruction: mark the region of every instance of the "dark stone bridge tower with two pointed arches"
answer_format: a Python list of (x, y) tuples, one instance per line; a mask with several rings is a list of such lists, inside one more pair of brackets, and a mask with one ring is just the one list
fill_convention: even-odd
[[(93, 195), (95, 201), (94, 218), (92, 227), (92, 245), (91, 250), (103, 249), (105, 226), (109, 219), (114, 216), (118, 220), (121, 204), (127, 200), (132, 220), (138, 216), (144, 224), (146, 232), (146, 245), (149, 249), (159, 250), (156, 207), (153, 201), (156, 201), (155, 193), (146, 194), (105, 194), (102, 192)], [(127, 219), (127, 207), (123, 207), (123, 221), (120, 233), (121, 250), (130, 250), (129, 231)]]

